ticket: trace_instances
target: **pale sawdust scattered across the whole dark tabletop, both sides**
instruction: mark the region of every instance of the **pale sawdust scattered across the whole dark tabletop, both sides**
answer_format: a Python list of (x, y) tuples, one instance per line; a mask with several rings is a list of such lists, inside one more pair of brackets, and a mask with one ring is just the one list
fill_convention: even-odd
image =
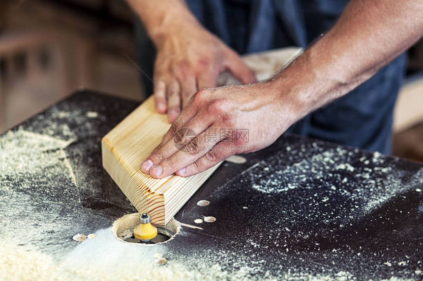
[[(97, 110), (97, 109), (96, 109)], [(100, 112), (100, 111), (98, 111)], [(100, 120), (102, 115), (98, 113), (97, 117), (89, 117), (86, 110), (69, 110), (53, 108), (48, 116), (53, 116), (51, 120), (47, 115), (37, 117), (39, 119), (40, 127), (37, 127), (38, 133), (31, 133), (30, 128), (24, 127), (11, 132), (8, 132), (0, 137), (0, 209), (5, 210), (0, 212), (0, 238), (3, 241), (0, 243), (0, 279), (5, 280), (315, 280), (315, 281), (339, 281), (339, 280), (360, 280), (354, 274), (346, 271), (315, 273), (309, 268), (307, 264), (304, 265), (302, 271), (295, 271), (294, 268), (287, 266), (287, 263), (282, 263), (287, 258), (285, 253), (280, 254), (280, 260), (273, 261), (276, 264), (280, 262), (280, 266), (275, 271), (269, 270), (269, 263), (260, 258), (260, 254), (250, 251), (253, 243), (257, 248), (267, 251), (264, 241), (251, 240), (250, 245), (244, 245), (245, 252), (228, 251), (225, 246), (220, 246), (220, 240), (213, 240), (213, 237), (207, 237), (210, 243), (216, 243), (213, 250), (204, 250), (199, 247), (194, 250), (192, 255), (180, 255), (177, 251), (172, 251), (172, 240), (170, 244), (152, 245), (152, 247), (140, 247), (133, 243), (123, 243), (116, 239), (112, 232), (112, 228), (104, 230), (90, 229), (92, 220), (96, 220), (96, 227), (100, 225), (98, 221), (103, 221), (103, 225), (110, 226), (113, 218), (108, 217), (107, 212), (101, 213), (96, 211), (85, 214), (79, 211), (81, 207), (80, 193), (81, 186), (85, 181), (89, 180), (87, 175), (90, 175), (91, 169), (101, 169), (99, 164), (86, 163), (84, 161), (75, 162), (77, 155), (83, 154), (75, 150), (69, 150), (69, 146), (75, 148), (75, 143), (78, 145), (78, 139), (73, 130), (78, 128), (78, 137), (88, 138), (91, 140), (92, 147), (95, 147), (95, 138), (98, 136), (97, 128), (93, 125)], [(91, 114), (89, 114), (91, 115)], [(91, 115), (93, 116), (93, 115)], [(91, 122), (87, 122), (87, 117)], [(60, 121), (61, 120), (61, 121)], [(71, 125), (72, 123), (72, 125)], [(69, 124), (69, 125), (68, 125)], [(87, 139), (84, 139), (87, 141)], [(97, 140), (99, 142), (99, 139)], [(45, 147), (46, 146), (46, 147)], [(7, 148), (7, 149), (6, 149)], [(47, 148), (47, 149), (46, 149)], [(301, 148), (302, 149), (302, 148)], [(14, 150), (16, 153), (8, 153)], [(74, 153), (69, 157), (69, 152)], [(295, 154), (303, 153), (298, 147), (292, 148), (292, 153), (289, 157), (294, 157)], [(323, 152), (322, 152), (323, 153)], [(324, 154), (320, 156), (324, 157)], [(332, 154), (331, 154), (332, 153)], [(347, 153), (348, 154), (348, 153)], [(7, 157), (6, 157), (6, 156)], [(75, 156), (76, 155), (76, 156)], [(331, 156), (332, 155), (332, 156)], [(285, 155), (287, 156), (287, 155)], [(338, 157), (337, 152), (331, 151), (328, 156)], [(345, 153), (344, 153), (345, 156)], [(345, 156), (347, 157), (347, 156)], [(371, 184), (372, 173), (379, 173), (388, 175), (390, 173), (389, 166), (383, 166), (380, 170), (358, 170), (354, 171), (346, 169), (335, 169), (334, 165), (348, 163), (348, 158), (340, 157), (331, 163), (330, 160), (324, 162), (330, 163), (332, 170), (339, 172), (352, 173), (348, 177), (340, 179), (346, 187), (355, 188), (354, 182), (357, 174), (362, 173), (366, 182)], [(294, 157), (295, 158), (295, 157)], [(293, 160), (295, 160), (293, 158)], [(70, 160), (71, 161), (70, 161)], [(82, 158), (79, 158), (82, 159)], [(319, 163), (322, 158), (313, 158)], [(260, 183), (259, 179), (264, 179), (266, 175), (259, 177), (261, 173), (271, 173), (273, 171), (269, 167), (276, 162), (276, 167), (286, 167), (278, 163), (276, 160), (265, 161), (258, 163), (244, 176), (254, 179), (254, 184)], [(295, 161), (294, 161), (295, 162)], [(299, 161), (297, 161), (299, 162)], [(296, 162), (296, 163), (297, 163)], [(365, 165), (373, 162), (381, 163), (383, 165), (384, 158), (381, 155), (365, 155), (362, 161)], [(307, 164), (307, 162), (303, 162)], [(326, 165), (327, 163), (324, 163)], [(268, 165), (263, 167), (263, 165)], [(301, 164), (300, 164), (301, 165)], [(315, 164), (317, 165), (317, 164)], [(314, 165), (314, 166), (315, 166)], [(93, 167), (91, 167), (93, 166)], [(95, 166), (95, 167), (94, 167)], [(325, 168), (316, 168), (313, 165), (309, 166), (308, 170), (304, 167), (306, 173), (311, 173), (317, 177), (319, 171), (325, 173), (332, 173)], [(312, 170), (312, 168), (315, 170)], [(342, 166), (340, 166), (342, 167)], [(346, 167), (346, 166), (345, 166)], [(257, 168), (257, 169), (256, 169)], [(288, 165), (288, 168), (296, 169), (293, 165)], [(256, 170), (254, 170), (256, 169)], [(257, 172), (260, 169), (263, 172)], [(282, 169), (282, 170), (283, 170)], [(330, 170), (330, 169), (329, 169)], [(250, 175), (249, 173), (255, 173)], [(298, 170), (301, 173), (301, 170)], [(26, 175), (31, 175), (27, 177)], [(367, 175), (365, 175), (367, 174)], [(377, 175), (379, 175), (377, 174)], [(286, 174), (288, 178), (292, 179), (290, 173)], [(335, 175), (335, 173), (332, 173)], [(423, 175), (423, 174), (422, 174)], [(420, 176), (422, 176), (420, 175)], [(327, 176), (330, 176), (329, 174)], [(86, 177), (84, 179), (84, 177)], [(330, 176), (332, 177), (332, 176)], [(337, 176), (336, 176), (337, 177)], [(368, 177), (367, 179), (365, 177)], [(28, 178), (32, 179), (31, 181)], [(34, 180), (35, 179), (35, 180)], [(259, 189), (269, 191), (271, 188), (280, 196), (284, 196), (287, 192), (296, 192), (304, 189), (304, 186), (313, 188), (311, 183), (296, 181), (291, 185), (286, 185), (288, 190), (278, 191), (278, 188), (263, 181)], [(324, 178), (323, 178), (324, 179)], [(64, 184), (58, 189), (58, 180), (63, 181)], [(273, 179), (274, 180), (274, 179)], [(414, 179), (413, 179), (414, 180)], [(93, 189), (98, 186), (99, 181), (93, 181), (95, 184), (86, 184), (86, 194), (94, 194)], [(359, 187), (360, 193), (356, 193), (359, 202), (359, 196), (369, 195), (370, 200), (379, 200), (385, 202), (396, 192), (391, 192), (392, 187), (382, 182), (382, 186), (377, 190), (365, 193), (366, 186)], [(281, 185), (283, 185), (282, 182)], [(397, 182), (399, 184), (399, 182)], [(373, 185), (370, 185), (370, 187)], [(31, 187), (36, 187), (34, 194), (26, 194), (22, 191), (29, 190)], [(332, 189), (332, 186), (324, 186), (331, 192), (343, 192), (342, 188)], [(388, 187), (387, 194), (381, 194), (382, 188)], [(315, 186), (314, 186), (315, 188)], [(407, 189), (408, 185), (403, 189)], [(258, 191), (259, 189), (251, 188), (251, 190)], [(350, 191), (349, 188), (344, 188)], [(403, 190), (401, 189), (401, 190)], [(414, 188), (413, 190), (415, 190)], [(363, 191), (364, 190), (364, 191)], [(417, 191), (417, 190), (416, 190)], [(32, 189), (31, 189), (32, 192)], [(247, 190), (247, 192), (249, 192)], [(262, 194), (271, 194), (265, 191), (258, 191)], [(63, 193), (68, 198), (68, 206), (56, 202), (55, 193)], [(343, 194), (341, 193), (341, 194)], [(2, 195), (6, 196), (2, 196)], [(352, 193), (354, 195), (354, 193)], [(35, 196), (36, 195), (36, 196)], [(93, 195), (91, 195), (93, 196)], [(349, 199), (345, 194), (346, 199)], [(385, 198), (381, 197), (385, 196)], [(329, 194), (325, 202), (331, 202), (332, 197)], [(307, 199), (306, 203), (309, 203)], [(215, 201), (213, 200), (213, 203)], [(349, 202), (349, 201), (348, 201)], [(359, 202), (360, 203), (360, 202)], [(371, 204), (365, 206), (372, 208)], [(123, 203), (122, 203), (123, 204)], [(248, 204), (243, 203), (243, 204)], [(7, 207), (6, 207), (7, 206)], [(10, 206), (14, 206), (11, 208)], [(78, 206), (73, 208), (72, 206)], [(241, 208), (242, 205), (240, 205)], [(254, 205), (257, 206), (257, 205)], [(107, 210), (107, 209), (106, 209)], [(123, 210), (124, 212), (130, 212)], [(360, 215), (360, 213), (358, 212)], [(314, 215), (314, 213), (312, 214)], [(13, 219), (10, 219), (13, 218)], [(294, 215), (294, 220), (296, 219)], [(335, 218), (332, 218), (336, 220)], [(223, 218), (220, 218), (223, 220)], [(81, 227), (81, 222), (86, 221), (86, 227)], [(76, 224), (76, 222), (78, 222)], [(302, 223), (300, 221), (293, 223)], [(311, 223), (310, 223), (311, 224)], [(183, 225), (183, 224), (182, 224)], [(347, 225), (343, 222), (343, 225)], [(77, 226), (77, 227), (75, 227)], [(183, 225), (184, 226), (184, 225)], [(206, 225), (206, 227), (213, 228), (215, 225)], [(201, 228), (189, 226), (194, 231), (202, 231)], [(187, 227), (188, 228), (188, 227)], [(185, 227), (176, 235), (175, 239), (187, 239), (197, 236), (192, 236), (186, 231)], [(184, 230), (185, 229), (185, 230)], [(290, 227), (291, 233), (293, 229)], [(74, 233), (91, 233), (97, 235), (95, 239), (86, 239), (81, 243), (72, 241), (71, 236)], [(270, 235), (285, 235), (288, 232), (280, 231), (279, 233), (270, 233)], [(287, 231), (287, 230), (286, 230)], [(15, 240), (10, 239), (10, 233), (16, 235)], [(248, 234), (248, 233), (246, 233)], [(51, 239), (50, 237), (54, 237)], [(282, 237), (283, 238), (283, 237)], [(60, 240), (62, 239), (62, 240)], [(69, 240), (69, 242), (68, 242)], [(192, 239), (191, 239), (192, 240)], [(187, 240), (185, 240), (187, 241)], [(223, 241), (223, 240), (222, 240)], [(222, 243), (223, 244), (223, 243)], [(199, 244), (201, 245), (201, 244)], [(76, 248), (75, 248), (76, 247)], [(256, 248), (256, 249), (257, 249)], [(195, 248), (193, 248), (195, 249)], [(340, 251), (339, 249), (333, 249)], [(167, 263), (158, 265), (155, 256), (160, 252), (161, 257), (167, 259)], [(288, 252), (288, 251), (287, 251)], [(289, 249), (289, 253), (293, 252)], [(294, 252), (294, 255), (297, 255)], [(385, 259), (388, 260), (388, 259)], [(394, 266), (403, 260), (392, 260)], [(357, 260), (352, 260), (352, 263)], [(140, 268), (140, 264), (143, 268)], [(23, 266), (24, 265), (24, 266)], [(289, 263), (288, 263), (289, 265)], [(383, 265), (386, 266), (386, 265)], [(416, 274), (420, 274), (416, 273)], [(392, 280), (400, 280), (392, 278)]]

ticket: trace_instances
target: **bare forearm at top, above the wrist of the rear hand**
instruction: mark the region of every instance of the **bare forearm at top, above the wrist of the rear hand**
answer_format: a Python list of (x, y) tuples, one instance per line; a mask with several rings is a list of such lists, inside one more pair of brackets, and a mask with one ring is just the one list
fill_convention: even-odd
[(184, 0), (126, 0), (155, 45), (181, 26), (198, 25)]

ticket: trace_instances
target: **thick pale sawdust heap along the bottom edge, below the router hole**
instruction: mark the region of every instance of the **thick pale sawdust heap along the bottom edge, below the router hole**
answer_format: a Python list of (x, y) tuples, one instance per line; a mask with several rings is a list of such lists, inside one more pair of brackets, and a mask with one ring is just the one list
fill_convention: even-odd
[[(351, 274), (338, 272), (333, 277), (313, 274), (288, 274), (273, 276), (267, 272), (265, 277), (256, 279), (255, 270), (260, 268), (260, 262), (244, 264), (238, 261), (238, 269), (228, 272), (219, 265), (219, 260), (210, 265), (208, 256), (172, 255), (164, 246), (143, 247), (131, 243), (121, 243), (110, 235), (110, 229), (97, 232), (96, 239), (87, 239), (65, 255), (59, 261), (41, 252), (22, 247), (11, 248), (1, 242), (0, 272), (6, 280), (281, 280), (284, 277), (291, 281), (345, 281)], [(234, 257), (229, 253), (215, 253), (221, 261)], [(157, 262), (158, 256), (166, 259), (166, 264)], [(240, 257), (241, 258), (241, 257)], [(186, 264), (195, 263), (195, 268)], [(22, 266), (26, 264), (27, 266)], [(142, 264), (142, 270), (140, 270)], [(235, 264), (234, 264), (235, 265)], [(240, 267), (241, 265), (241, 267)], [(391, 279), (400, 280), (400, 279)]]

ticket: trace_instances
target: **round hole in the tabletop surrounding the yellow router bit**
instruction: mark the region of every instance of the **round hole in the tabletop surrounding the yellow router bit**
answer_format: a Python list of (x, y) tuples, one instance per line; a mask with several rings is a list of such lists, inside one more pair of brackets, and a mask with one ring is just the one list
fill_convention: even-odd
[(179, 232), (181, 226), (177, 220), (172, 218), (169, 223), (165, 226), (154, 225), (157, 228), (157, 236), (151, 239), (149, 243), (142, 243), (139, 239), (133, 236), (134, 228), (140, 223), (140, 214), (133, 213), (125, 215), (117, 219), (113, 223), (113, 234), (116, 238), (128, 242), (128, 243), (138, 243), (140, 245), (154, 245), (165, 243), (171, 240), (175, 234)]

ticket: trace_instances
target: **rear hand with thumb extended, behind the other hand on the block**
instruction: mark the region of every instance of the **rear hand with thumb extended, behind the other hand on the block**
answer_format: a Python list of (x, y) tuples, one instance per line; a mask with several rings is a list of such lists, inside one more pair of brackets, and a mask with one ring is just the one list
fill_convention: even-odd
[(155, 107), (170, 123), (198, 90), (216, 86), (220, 72), (229, 70), (244, 84), (256, 80), (235, 51), (198, 23), (185, 25), (155, 40)]

